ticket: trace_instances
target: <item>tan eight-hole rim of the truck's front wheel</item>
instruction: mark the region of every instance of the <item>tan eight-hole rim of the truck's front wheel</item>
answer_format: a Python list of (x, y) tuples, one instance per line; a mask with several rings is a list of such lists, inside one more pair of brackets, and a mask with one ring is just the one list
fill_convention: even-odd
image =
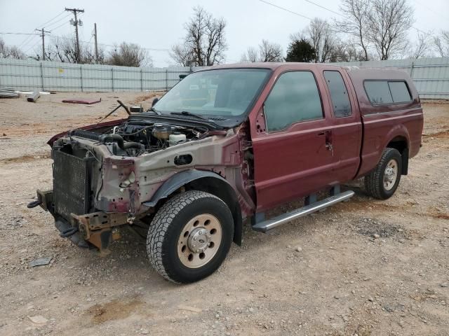
[(192, 218), (177, 240), (177, 256), (182, 265), (189, 268), (206, 265), (217, 254), (222, 235), (222, 225), (215, 216), (201, 214)]

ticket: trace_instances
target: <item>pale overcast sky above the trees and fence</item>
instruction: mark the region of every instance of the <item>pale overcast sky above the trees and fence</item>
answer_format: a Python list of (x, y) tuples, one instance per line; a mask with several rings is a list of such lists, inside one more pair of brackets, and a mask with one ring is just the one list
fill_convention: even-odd
[[(267, 0), (309, 18), (338, 18), (335, 13), (305, 0)], [(313, 0), (321, 6), (338, 12), (338, 0)], [(414, 27), (423, 31), (449, 29), (448, 0), (409, 0), (415, 8)], [(80, 40), (93, 43), (93, 24), (97, 23), (98, 43), (113, 45), (121, 41), (133, 42), (149, 50), (154, 66), (173, 63), (168, 55), (171, 45), (185, 35), (184, 23), (192, 15), (192, 7), (200, 5), (215, 17), (227, 21), (226, 37), (229, 49), (227, 63), (238, 62), (248, 46), (255, 46), (262, 38), (282, 45), (285, 52), (292, 33), (301, 31), (309, 20), (274, 8), (259, 0), (162, 0), (162, 1), (107, 1), (107, 0), (0, 0), (0, 33), (31, 33), (43, 23), (62, 13), (65, 7), (82, 8), (83, 27)], [(58, 36), (73, 34), (64, 13), (46, 25), (46, 30)], [(59, 20), (59, 22), (58, 22)], [(53, 25), (52, 25), (53, 23)], [(60, 27), (58, 27), (60, 26)], [(417, 31), (410, 29), (410, 38)], [(21, 45), (22, 50), (40, 50), (39, 36), (0, 34), (7, 45)], [(27, 38), (27, 39), (26, 39)], [(25, 40), (26, 39), (26, 40)], [(25, 41), (24, 41), (25, 40)], [(25, 43), (24, 43), (25, 42)], [(106, 47), (110, 49), (111, 47)]]

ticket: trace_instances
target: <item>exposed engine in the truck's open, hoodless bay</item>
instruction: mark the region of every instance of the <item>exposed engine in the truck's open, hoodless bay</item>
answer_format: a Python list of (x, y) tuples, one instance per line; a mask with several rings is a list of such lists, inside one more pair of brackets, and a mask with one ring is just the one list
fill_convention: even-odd
[(128, 120), (101, 133), (74, 130), (70, 137), (83, 137), (105, 144), (114, 155), (138, 156), (186, 141), (198, 140), (202, 132), (193, 127)]

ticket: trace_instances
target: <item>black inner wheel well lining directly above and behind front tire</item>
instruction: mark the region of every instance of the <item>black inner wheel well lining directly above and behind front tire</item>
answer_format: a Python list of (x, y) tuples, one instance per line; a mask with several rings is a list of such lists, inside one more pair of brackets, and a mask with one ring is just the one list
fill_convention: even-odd
[(234, 218), (234, 243), (240, 246), (242, 239), (241, 208), (232, 186), (221, 179), (205, 176), (201, 179), (196, 179), (187, 183), (185, 189), (205, 191), (206, 193), (217, 196), (227, 204), (229, 210), (231, 210), (232, 217)]

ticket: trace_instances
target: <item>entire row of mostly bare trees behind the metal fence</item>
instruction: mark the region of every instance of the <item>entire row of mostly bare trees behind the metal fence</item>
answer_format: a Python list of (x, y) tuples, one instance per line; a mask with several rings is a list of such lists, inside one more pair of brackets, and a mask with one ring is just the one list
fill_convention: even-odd
[[(449, 57), (449, 30), (420, 31), (416, 41), (408, 39), (413, 29), (413, 8), (408, 0), (341, 0), (340, 16), (334, 20), (314, 18), (304, 29), (290, 34), (284, 55), (279, 43), (262, 39), (241, 55), (241, 62), (349, 62), (396, 57)], [(214, 18), (204, 8), (193, 8), (185, 23), (182, 42), (173, 45), (170, 58), (180, 66), (212, 66), (226, 60), (227, 22)], [(50, 61), (121, 66), (152, 66), (152, 57), (135, 43), (122, 42), (106, 51), (99, 45), (98, 56), (91, 43), (81, 43), (77, 55), (73, 36), (52, 36), (45, 58)], [(0, 38), (0, 57), (40, 60), (41, 50), (32, 55)]]

